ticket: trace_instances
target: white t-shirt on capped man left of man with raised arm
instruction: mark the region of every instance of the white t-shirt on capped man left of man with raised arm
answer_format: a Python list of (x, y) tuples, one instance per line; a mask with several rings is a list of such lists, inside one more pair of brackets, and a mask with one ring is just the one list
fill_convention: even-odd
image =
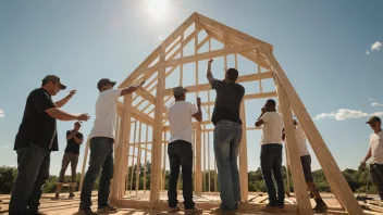
[(170, 123), (170, 140), (185, 140), (192, 143), (192, 116), (198, 112), (198, 109), (190, 102), (176, 101), (169, 108), (169, 123)]

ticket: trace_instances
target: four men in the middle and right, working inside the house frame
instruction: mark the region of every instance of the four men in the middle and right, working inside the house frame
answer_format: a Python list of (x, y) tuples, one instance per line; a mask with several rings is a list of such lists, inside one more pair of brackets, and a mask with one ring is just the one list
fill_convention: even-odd
[[(213, 214), (233, 213), (238, 208), (240, 202), (239, 173), (237, 157), (243, 136), (240, 119), (240, 105), (245, 94), (245, 88), (237, 84), (238, 71), (228, 68), (225, 78), (218, 80), (211, 73), (212, 60), (208, 62), (207, 78), (217, 92), (214, 110), (211, 122), (214, 125), (214, 154), (217, 160), (218, 178), (220, 186), (221, 204), (213, 208)], [(195, 207), (193, 201), (193, 149), (192, 117), (200, 122), (201, 102), (197, 98), (197, 106), (186, 102), (186, 92), (182, 86), (173, 89), (175, 103), (169, 108), (169, 122), (171, 138), (169, 141), (168, 154), (170, 160), (171, 176), (169, 178), (169, 211), (177, 212), (176, 186), (182, 166), (183, 174), (183, 195), (185, 213), (201, 213)], [(311, 157), (306, 146), (306, 136), (300, 124), (294, 121), (302, 169), (307, 187), (313, 194), (317, 205), (316, 212), (325, 212), (326, 204), (313, 182), (311, 175)], [(276, 212), (284, 208), (285, 189), (282, 178), (282, 143), (285, 138), (284, 122), (282, 115), (276, 111), (276, 102), (269, 99), (261, 109), (261, 115), (256, 122), (256, 126), (262, 126), (261, 138), (261, 169), (269, 194), (269, 203), (262, 207), (264, 212)], [(277, 194), (274, 187), (277, 187)]]

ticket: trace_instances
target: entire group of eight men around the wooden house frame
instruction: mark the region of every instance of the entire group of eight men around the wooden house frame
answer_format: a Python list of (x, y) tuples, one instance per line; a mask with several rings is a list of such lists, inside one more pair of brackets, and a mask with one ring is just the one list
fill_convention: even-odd
[[(213, 208), (211, 213), (226, 214), (235, 212), (242, 200), (237, 157), (244, 132), (239, 113), (245, 88), (236, 83), (238, 78), (236, 68), (228, 68), (223, 80), (213, 78), (211, 73), (212, 61), (208, 62), (207, 79), (212, 89), (217, 91), (211, 122), (215, 126), (213, 148), (222, 201), (220, 206)], [(113, 143), (118, 100), (119, 97), (133, 93), (145, 81), (124, 89), (113, 89), (115, 84), (108, 78), (102, 78), (97, 84), (100, 94), (96, 101), (96, 119), (88, 137), (90, 147), (89, 167), (84, 178), (79, 203), (79, 213), (84, 215), (97, 214), (90, 208), (90, 197), (95, 180), (100, 173), (97, 212), (113, 213), (119, 211), (109, 204), (110, 185), (113, 178)], [(88, 114), (70, 114), (60, 110), (73, 97), (75, 90), (72, 90), (67, 97), (58, 102), (52, 101), (51, 97), (65, 88), (66, 86), (60, 81), (59, 77), (48, 75), (42, 79), (41, 87), (33, 90), (27, 97), (24, 116), (14, 144), (14, 150), (17, 152), (17, 177), (11, 193), (10, 214), (42, 214), (38, 211), (38, 207), (42, 186), (49, 177), (50, 154), (52, 151), (59, 150), (57, 119), (76, 121), (74, 129), (66, 132), (67, 146), (59, 179), (60, 182), (63, 182), (65, 169), (71, 163), (71, 181), (75, 181), (79, 144), (83, 143), (83, 135), (78, 130), (82, 125), (81, 122), (88, 121), (89, 116)], [(197, 98), (197, 106), (186, 102), (186, 92), (187, 89), (182, 86), (173, 88), (175, 102), (168, 110), (171, 132), (168, 147), (171, 170), (168, 189), (169, 211), (177, 212), (181, 210), (177, 206), (176, 187), (180, 167), (182, 167), (185, 213), (200, 214), (202, 210), (197, 208), (193, 201), (192, 118), (198, 122), (202, 121), (201, 101)], [(383, 132), (381, 119), (374, 116), (370, 118), (368, 124), (371, 125), (374, 134), (370, 136), (370, 150), (361, 162), (361, 166), (366, 166), (366, 162), (372, 157), (372, 179), (379, 187), (383, 200)], [(285, 198), (282, 177), (282, 149), (285, 134), (283, 116), (276, 111), (274, 100), (267, 100), (255, 125), (257, 127), (262, 126), (260, 162), (269, 194), (269, 203), (261, 210), (264, 212), (281, 211), (284, 208)], [(307, 188), (317, 202), (313, 210), (325, 212), (328, 206), (321, 199), (311, 175), (311, 157), (307, 150), (305, 131), (297, 121), (294, 121), (294, 126)], [(74, 197), (73, 190), (71, 190), (70, 197)]]

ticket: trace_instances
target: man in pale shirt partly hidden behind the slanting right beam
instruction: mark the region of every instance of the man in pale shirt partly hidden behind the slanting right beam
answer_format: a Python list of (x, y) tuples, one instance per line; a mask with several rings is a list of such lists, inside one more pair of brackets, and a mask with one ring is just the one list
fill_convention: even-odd
[[(298, 152), (300, 155), (301, 167), (304, 169), (306, 186), (314, 197), (314, 201), (317, 205), (313, 207), (314, 213), (323, 213), (328, 211), (328, 205), (323, 202), (319, 190), (313, 182), (313, 177), (311, 173), (311, 156), (309, 151), (307, 150), (306, 144), (306, 135), (301, 125), (293, 119), (295, 126), (295, 137), (297, 139)], [(282, 131), (282, 139), (285, 141), (285, 130)]]

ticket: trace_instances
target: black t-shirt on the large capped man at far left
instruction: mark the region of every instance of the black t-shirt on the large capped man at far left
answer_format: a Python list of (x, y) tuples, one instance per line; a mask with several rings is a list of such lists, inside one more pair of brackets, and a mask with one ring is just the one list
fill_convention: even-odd
[(15, 138), (14, 150), (30, 144), (52, 151), (59, 150), (55, 118), (45, 112), (51, 108), (55, 108), (55, 104), (44, 88), (35, 89), (29, 93)]

